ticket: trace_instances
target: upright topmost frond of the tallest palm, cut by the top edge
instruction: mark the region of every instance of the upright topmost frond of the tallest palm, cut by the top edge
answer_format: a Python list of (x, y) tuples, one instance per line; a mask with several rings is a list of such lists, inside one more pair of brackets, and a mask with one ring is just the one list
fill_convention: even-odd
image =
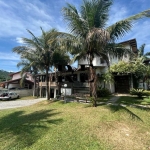
[(88, 22), (89, 29), (104, 28), (108, 20), (108, 10), (112, 5), (112, 1), (92, 0), (83, 1), (81, 6), (81, 16)]

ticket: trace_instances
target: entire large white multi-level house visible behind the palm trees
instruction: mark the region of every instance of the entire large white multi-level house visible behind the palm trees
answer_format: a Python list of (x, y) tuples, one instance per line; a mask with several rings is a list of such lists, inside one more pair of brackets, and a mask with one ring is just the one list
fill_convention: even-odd
[[(137, 53), (137, 43), (136, 39), (131, 39), (122, 42), (127, 49), (130, 49), (134, 53)], [(129, 61), (129, 54), (123, 55), (122, 58), (114, 57), (108, 54), (110, 66), (118, 63), (120, 60)], [(97, 76), (101, 76), (108, 70), (107, 63), (101, 57), (95, 56), (93, 60), (93, 66), (96, 69)], [(55, 80), (56, 74), (58, 74), (57, 81)], [(81, 59), (78, 61), (78, 68), (71, 68), (66, 66), (66, 69), (62, 69), (62, 66), (58, 66), (58, 71), (49, 74), (49, 90), (50, 97), (56, 97), (58, 93), (57, 83), (61, 83), (61, 92), (65, 95), (71, 95), (72, 93), (89, 93), (89, 63), (86, 59)], [(38, 74), (36, 76), (36, 90), (40, 97), (46, 97), (46, 75)], [(114, 75), (114, 83), (109, 83), (106, 85), (112, 93), (125, 93), (128, 92), (130, 87), (133, 87), (132, 78), (130, 75)], [(67, 87), (64, 87), (67, 84)], [(101, 83), (102, 85), (103, 83)]]

